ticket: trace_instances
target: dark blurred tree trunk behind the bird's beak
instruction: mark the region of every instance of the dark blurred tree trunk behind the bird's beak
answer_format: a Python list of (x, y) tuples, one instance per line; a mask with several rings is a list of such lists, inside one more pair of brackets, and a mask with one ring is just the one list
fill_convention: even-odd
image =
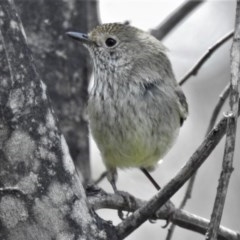
[(58, 122), (83, 181), (91, 177), (84, 108), (91, 75), (89, 55), (66, 31), (87, 32), (98, 23), (96, 1), (16, 1), (28, 44), (48, 87)]

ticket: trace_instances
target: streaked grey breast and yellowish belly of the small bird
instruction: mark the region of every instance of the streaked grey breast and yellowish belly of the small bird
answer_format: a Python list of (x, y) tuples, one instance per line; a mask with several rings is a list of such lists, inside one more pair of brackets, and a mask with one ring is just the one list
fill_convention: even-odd
[(160, 98), (146, 99), (134, 86), (97, 87), (89, 98), (89, 124), (107, 167), (155, 165), (178, 134), (171, 111)]

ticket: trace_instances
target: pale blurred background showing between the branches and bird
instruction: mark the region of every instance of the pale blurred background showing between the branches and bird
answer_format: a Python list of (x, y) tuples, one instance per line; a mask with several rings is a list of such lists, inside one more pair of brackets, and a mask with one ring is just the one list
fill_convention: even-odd
[[(183, 1), (180, 0), (100, 0), (99, 12), (103, 23), (130, 21), (131, 25), (149, 31), (157, 27)], [(168, 48), (175, 71), (179, 80), (199, 59), (199, 57), (223, 35), (234, 27), (236, 2), (233, 0), (209, 0), (200, 5), (174, 30), (164, 38), (163, 43)], [(189, 117), (184, 123), (180, 136), (164, 161), (152, 173), (157, 182), (164, 186), (190, 158), (202, 142), (213, 108), (219, 94), (230, 79), (230, 47), (231, 40), (225, 43), (208, 60), (198, 75), (191, 77), (183, 90), (189, 103)], [(228, 110), (228, 103), (222, 110)], [(240, 231), (240, 163), (238, 131), (234, 171), (226, 199), (222, 225)], [(104, 170), (99, 151), (91, 139), (91, 165), (93, 177), (97, 178)], [(218, 178), (221, 171), (225, 139), (199, 169), (193, 195), (186, 210), (201, 217), (210, 218)], [(107, 180), (100, 184), (106, 191), (112, 189)], [(117, 182), (120, 190), (128, 191), (136, 197), (150, 199), (155, 189), (139, 170), (119, 171)], [(185, 186), (172, 201), (179, 205), (184, 194)], [(107, 220), (119, 222), (115, 211), (101, 210), (99, 214)], [(167, 230), (161, 226), (164, 221), (155, 224), (145, 223), (131, 234), (128, 240), (161, 240), (165, 239)], [(173, 239), (204, 239), (202, 235), (177, 228)]]

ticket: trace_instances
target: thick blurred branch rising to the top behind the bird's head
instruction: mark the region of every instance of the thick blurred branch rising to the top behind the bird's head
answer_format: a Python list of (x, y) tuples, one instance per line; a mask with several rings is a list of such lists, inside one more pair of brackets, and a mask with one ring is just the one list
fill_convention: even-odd
[(180, 7), (172, 12), (157, 29), (152, 30), (151, 34), (158, 40), (162, 40), (178, 23), (180, 23), (185, 17), (187, 17), (188, 14), (190, 14), (204, 1), (205, 0), (185, 1)]

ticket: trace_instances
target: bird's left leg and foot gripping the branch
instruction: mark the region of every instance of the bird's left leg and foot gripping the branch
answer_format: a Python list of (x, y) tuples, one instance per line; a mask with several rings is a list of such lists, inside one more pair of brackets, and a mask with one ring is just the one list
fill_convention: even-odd
[[(116, 187), (116, 181), (117, 181), (117, 170), (116, 170), (116, 168), (115, 169), (114, 168), (108, 169), (107, 179), (110, 182), (114, 193), (120, 195), (124, 199), (124, 201), (126, 202), (127, 206), (130, 209), (134, 209), (135, 205), (136, 205), (136, 201), (135, 201), (134, 197), (132, 197), (127, 192), (119, 191)], [(122, 220), (125, 219), (122, 210), (118, 210), (118, 216)]]

